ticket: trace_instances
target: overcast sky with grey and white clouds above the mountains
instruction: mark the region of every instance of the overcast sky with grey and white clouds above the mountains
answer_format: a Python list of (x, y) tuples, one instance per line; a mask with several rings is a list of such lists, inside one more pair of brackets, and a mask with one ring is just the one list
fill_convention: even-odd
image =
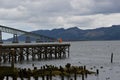
[(0, 25), (25, 31), (120, 24), (120, 0), (0, 0)]

